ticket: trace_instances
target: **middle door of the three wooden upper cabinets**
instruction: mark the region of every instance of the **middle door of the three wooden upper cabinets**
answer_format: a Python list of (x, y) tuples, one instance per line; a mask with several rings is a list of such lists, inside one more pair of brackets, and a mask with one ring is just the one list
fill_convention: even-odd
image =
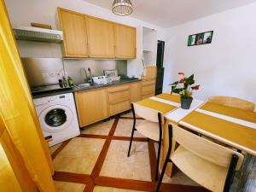
[(113, 22), (87, 16), (90, 57), (114, 58)]

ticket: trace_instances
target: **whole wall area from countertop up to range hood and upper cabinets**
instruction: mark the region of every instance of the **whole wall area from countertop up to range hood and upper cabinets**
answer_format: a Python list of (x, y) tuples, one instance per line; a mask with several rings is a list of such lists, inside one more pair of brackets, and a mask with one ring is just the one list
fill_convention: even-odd
[(17, 41), (17, 44), (31, 86), (58, 83), (60, 77), (56, 73), (61, 71), (62, 75), (64, 70), (75, 84), (84, 83), (84, 73), (80, 73), (80, 69), (89, 67), (94, 76), (103, 75), (104, 69), (117, 69), (119, 75), (127, 75), (127, 61), (62, 59), (61, 44), (32, 41)]

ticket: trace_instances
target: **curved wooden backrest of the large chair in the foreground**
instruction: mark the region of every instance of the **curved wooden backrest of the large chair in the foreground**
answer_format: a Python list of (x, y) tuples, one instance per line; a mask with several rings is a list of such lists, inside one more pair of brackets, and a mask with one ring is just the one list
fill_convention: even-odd
[(230, 148), (225, 148), (222, 145), (213, 143), (207, 138), (199, 137), (177, 125), (172, 125), (172, 137), (177, 143), (183, 146), (183, 148), (218, 166), (229, 167), (232, 154), (236, 154), (239, 158), (236, 170), (240, 169), (244, 156)]

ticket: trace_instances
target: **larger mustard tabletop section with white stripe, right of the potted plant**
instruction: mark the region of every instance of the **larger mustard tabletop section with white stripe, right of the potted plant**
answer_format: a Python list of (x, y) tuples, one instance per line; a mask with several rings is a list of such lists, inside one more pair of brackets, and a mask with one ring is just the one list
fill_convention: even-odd
[(256, 156), (255, 115), (207, 102), (178, 124)]

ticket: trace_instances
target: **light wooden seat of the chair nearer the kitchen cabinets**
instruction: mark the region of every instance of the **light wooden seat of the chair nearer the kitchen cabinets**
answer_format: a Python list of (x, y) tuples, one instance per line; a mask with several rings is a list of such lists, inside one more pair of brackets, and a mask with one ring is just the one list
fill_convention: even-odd
[(154, 141), (159, 141), (159, 124), (143, 120), (139, 125), (136, 126), (137, 131), (139, 131), (143, 136), (148, 137)]

